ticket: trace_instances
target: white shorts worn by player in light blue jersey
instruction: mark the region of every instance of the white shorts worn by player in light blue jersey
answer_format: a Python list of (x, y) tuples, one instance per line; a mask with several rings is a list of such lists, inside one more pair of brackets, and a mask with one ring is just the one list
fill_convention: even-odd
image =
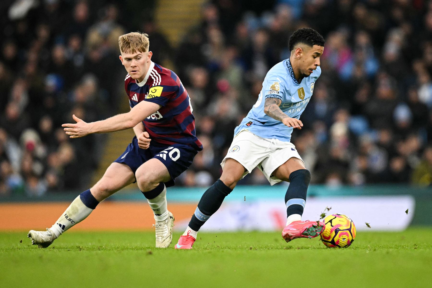
[[(274, 177), (272, 175), (273, 171), (292, 157), (303, 161), (291, 142), (261, 138), (248, 130), (241, 130), (232, 139), (228, 153), (220, 165), (223, 168), (228, 158), (238, 161), (247, 170), (241, 178), (251, 173), (255, 167), (258, 167), (270, 182), (270, 185), (274, 185), (282, 180)], [(305, 163), (303, 162), (303, 164)]]

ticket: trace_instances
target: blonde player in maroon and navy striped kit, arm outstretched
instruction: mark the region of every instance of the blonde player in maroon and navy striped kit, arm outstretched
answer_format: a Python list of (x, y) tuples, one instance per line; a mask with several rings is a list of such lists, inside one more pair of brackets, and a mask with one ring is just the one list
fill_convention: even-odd
[(136, 136), (103, 177), (76, 197), (51, 228), (29, 231), (32, 243), (39, 247), (48, 247), (89, 216), (98, 203), (135, 181), (154, 212), (156, 247), (171, 244), (174, 216), (167, 209), (166, 187), (174, 185), (174, 179), (203, 149), (195, 136), (190, 98), (174, 72), (152, 62), (147, 34), (128, 33), (118, 42), (119, 58), (127, 71), (124, 88), (130, 111), (91, 123), (73, 115), (76, 123), (62, 126), (70, 138), (129, 128)]

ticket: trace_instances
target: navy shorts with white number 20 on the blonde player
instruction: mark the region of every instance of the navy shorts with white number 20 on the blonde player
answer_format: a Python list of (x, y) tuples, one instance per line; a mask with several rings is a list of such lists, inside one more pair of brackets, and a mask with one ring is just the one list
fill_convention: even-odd
[[(152, 141), (153, 142), (153, 141)], [(171, 146), (159, 146), (150, 142), (148, 149), (141, 149), (138, 147), (137, 136), (133, 137), (123, 154), (118, 157), (114, 162), (124, 163), (132, 169), (133, 173), (137, 172), (146, 161), (151, 158), (156, 158), (161, 161), (168, 169), (171, 180), (165, 183), (166, 187), (174, 186), (174, 179), (181, 173), (186, 171), (192, 164), (197, 150), (188, 145), (173, 144)]]

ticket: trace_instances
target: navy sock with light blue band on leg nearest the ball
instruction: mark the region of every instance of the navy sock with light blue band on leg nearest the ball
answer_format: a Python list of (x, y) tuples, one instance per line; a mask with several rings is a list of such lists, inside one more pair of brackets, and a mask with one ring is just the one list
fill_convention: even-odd
[(289, 174), (289, 187), (285, 194), (287, 217), (293, 214), (303, 214), (310, 181), (311, 172), (307, 169), (296, 170)]

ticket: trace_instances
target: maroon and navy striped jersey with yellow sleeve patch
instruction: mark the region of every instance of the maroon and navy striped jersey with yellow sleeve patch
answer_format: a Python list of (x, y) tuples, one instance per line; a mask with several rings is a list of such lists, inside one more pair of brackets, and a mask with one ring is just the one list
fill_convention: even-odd
[(124, 89), (129, 96), (130, 107), (141, 101), (162, 106), (143, 120), (153, 141), (163, 146), (184, 144), (198, 151), (203, 149), (200, 140), (195, 136), (191, 100), (174, 72), (152, 62), (142, 82), (137, 83), (127, 74)]

